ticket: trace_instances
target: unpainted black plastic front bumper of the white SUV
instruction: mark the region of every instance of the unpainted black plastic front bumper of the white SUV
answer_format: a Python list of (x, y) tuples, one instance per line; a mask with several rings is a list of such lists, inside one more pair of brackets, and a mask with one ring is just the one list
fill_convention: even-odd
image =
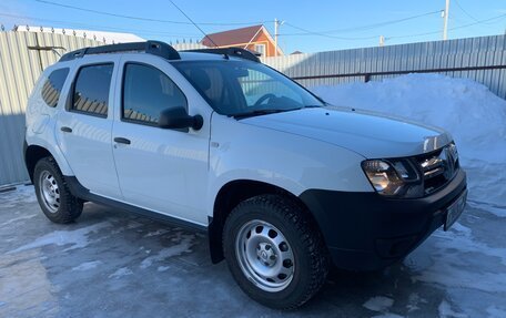
[(335, 266), (375, 270), (404, 258), (441, 227), (446, 208), (465, 191), (461, 168), (445, 187), (422, 198), (325, 189), (300, 197), (320, 225)]

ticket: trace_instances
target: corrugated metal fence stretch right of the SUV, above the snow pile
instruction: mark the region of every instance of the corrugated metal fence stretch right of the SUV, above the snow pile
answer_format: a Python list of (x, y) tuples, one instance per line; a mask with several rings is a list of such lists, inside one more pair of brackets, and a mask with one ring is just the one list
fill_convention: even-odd
[(304, 86), (441, 73), (485, 84), (506, 99), (506, 35), (264, 58)]

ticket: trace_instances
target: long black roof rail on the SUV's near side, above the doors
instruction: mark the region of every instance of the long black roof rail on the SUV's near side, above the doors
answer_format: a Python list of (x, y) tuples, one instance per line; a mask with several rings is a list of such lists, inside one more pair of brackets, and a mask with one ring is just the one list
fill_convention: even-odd
[(90, 54), (105, 54), (105, 53), (118, 53), (129, 51), (141, 51), (148, 54), (158, 55), (168, 60), (180, 60), (181, 57), (178, 51), (165, 42), (160, 41), (145, 41), (145, 42), (132, 42), (121, 44), (110, 44), (101, 47), (83, 48), (69, 52), (61, 57), (60, 62), (71, 61), (73, 59), (82, 58)]

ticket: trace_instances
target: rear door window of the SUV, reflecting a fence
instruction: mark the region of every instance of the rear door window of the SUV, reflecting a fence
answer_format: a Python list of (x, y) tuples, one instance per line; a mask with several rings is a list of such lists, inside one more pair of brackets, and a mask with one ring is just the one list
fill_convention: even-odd
[(97, 64), (79, 70), (71, 110), (90, 115), (107, 117), (109, 89), (114, 65)]

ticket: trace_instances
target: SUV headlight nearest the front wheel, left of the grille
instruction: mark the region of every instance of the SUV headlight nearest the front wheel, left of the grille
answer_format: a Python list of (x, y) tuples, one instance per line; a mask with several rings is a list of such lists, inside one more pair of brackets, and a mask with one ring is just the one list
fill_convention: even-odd
[(370, 160), (362, 163), (374, 189), (385, 196), (419, 197), (423, 183), (408, 160)]

